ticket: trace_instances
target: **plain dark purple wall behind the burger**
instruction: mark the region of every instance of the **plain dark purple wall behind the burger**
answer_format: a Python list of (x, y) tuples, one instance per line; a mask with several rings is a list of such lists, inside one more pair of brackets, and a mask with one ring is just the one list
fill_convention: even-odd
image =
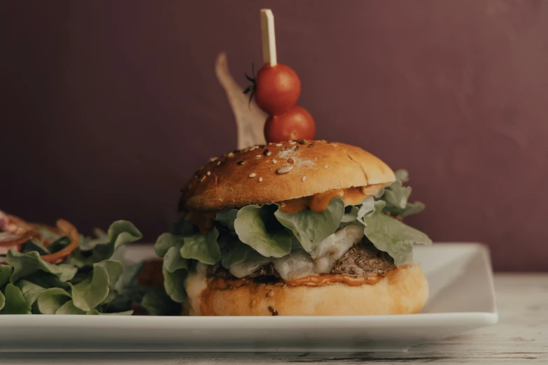
[(213, 74), (260, 64), (259, 9), (318, 138), (409, 169), (436, 241), (548, 269), (548, 2), (4, 1), (0, 209), (153, 240), (236, 131)]

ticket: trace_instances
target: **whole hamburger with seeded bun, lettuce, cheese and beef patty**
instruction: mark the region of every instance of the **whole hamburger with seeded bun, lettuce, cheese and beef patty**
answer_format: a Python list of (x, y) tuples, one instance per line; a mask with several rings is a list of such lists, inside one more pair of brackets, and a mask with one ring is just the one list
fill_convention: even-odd
[(344, 143), (286, 141), (212, 158), (156, 243), (167, 294), (189, 315), (417, 313), (431, 241), (402, 219), (406, 171)]

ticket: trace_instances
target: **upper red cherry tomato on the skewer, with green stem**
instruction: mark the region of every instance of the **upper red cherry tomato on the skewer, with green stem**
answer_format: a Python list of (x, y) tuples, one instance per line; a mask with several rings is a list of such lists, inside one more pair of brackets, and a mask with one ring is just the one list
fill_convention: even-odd
[(265, 65), (255, 78), (255, 101), (269, 115), (286, 113), (297, 103), (301, 81), (297, 73), (285, 64)]

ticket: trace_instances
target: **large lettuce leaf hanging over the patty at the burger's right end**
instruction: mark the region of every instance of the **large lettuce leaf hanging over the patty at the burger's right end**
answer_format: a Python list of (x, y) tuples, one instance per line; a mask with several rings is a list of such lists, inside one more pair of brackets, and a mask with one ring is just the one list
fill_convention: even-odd
[(363, 218), (365, 236), (378, 250), (391, 255), (396, 266), (409, 264), (413, 261), (413, 244), (430, 245), (432, 241), (423, 232), (382, 213), (385, 204), (376, 201), (374, 213)]

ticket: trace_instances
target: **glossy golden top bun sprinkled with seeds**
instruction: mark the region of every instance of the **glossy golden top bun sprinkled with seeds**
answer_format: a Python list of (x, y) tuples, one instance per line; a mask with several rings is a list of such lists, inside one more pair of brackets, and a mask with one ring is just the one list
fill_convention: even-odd
[(179, 207), (224, 210), (394, 180), (394, 172), (381, 159), (353, 145), (269, 143), (210, 159), (183, 187)]

